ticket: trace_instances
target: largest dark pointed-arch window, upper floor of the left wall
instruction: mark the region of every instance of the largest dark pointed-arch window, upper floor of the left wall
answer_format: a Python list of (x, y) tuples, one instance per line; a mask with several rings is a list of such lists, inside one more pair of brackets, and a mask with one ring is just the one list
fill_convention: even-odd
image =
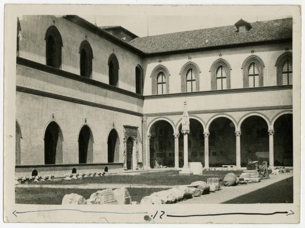
[(47, 66), (59, 69), (62, 66), (63, 41), (55, 26), (48, 28), (46, 40), (46, 64)]

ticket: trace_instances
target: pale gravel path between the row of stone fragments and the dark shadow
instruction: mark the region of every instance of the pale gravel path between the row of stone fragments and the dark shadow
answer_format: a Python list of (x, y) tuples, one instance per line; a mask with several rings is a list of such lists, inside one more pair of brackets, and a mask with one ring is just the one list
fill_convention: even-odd
[(293, 176), (293, 172), (279, 175), (270, 175), (269, 179), (262, 180), (259, 183), (239, 184), (237, 186), (223, 187), (220, 191), (195, 197), (189, 200), (181, 201), (180, 204), (221, 204), (226, 201), (235, 199), (244, 194), (261, 189), (268, 185), (277, 183)]

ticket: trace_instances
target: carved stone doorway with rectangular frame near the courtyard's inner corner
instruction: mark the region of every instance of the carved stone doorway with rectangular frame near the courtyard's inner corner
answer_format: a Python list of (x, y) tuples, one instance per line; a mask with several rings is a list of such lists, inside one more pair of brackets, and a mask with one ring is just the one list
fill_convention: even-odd
[[(139, 149), (138, 149), (138, 127), (123, 125), (124, 126), (124, 139), (123, 139), (123, 159), (124, 159), (124, 170), (134, 169), (133, 167), (133, 151), (136, 153), (135, 169), (138, 169), (139, 162)], [(132, 147), (130, 148), (130, 142)]]

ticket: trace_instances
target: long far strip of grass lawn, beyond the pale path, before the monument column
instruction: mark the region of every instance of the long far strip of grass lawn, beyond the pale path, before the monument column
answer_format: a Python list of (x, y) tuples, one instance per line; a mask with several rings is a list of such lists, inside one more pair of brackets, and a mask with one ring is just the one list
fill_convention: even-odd
[(205, 171), (204, 175), (178, 175), (178, 171), (148, 172), (139, 175), (105, 175), (82, 180), (57, 180), (34, 182), (32, 184), (147, 184), (147, 185), (183, 185), (194, 181), (206, 181), (209, 177), (224, 178), (227, 173), (239, 175), (242, 171)]

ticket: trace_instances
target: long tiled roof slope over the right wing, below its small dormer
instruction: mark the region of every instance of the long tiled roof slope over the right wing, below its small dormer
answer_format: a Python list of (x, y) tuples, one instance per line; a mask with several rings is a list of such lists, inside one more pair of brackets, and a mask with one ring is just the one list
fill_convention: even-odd
[(252, 28), (246, 32), (237, 32), (234, 25), (229, 25), (140, 37), (128, 43), (145, 54), (157, 54), (292, 39), (292, 18), (250, 24)]

